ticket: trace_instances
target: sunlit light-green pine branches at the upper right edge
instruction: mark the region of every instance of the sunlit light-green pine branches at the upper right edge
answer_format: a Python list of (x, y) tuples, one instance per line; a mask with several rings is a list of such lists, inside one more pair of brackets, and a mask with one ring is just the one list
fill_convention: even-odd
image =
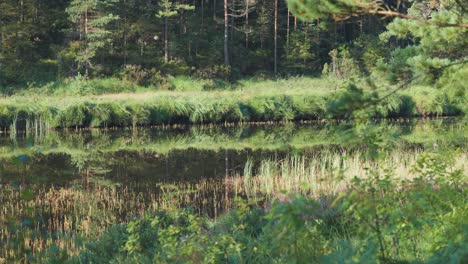
[[(418, 77), (419, 83), (437, 83), (445, 72), (466, 70), (466, 36), (464, 27), (441, 27), (437, 23), (466, 23), (466, 13), (457, 1), (448, 0), (444, 4), (430, 1), (414, 2), (408, 14), (419, 18), (431, 18), (432, 23), (418, 20), (396, 18), (388, 26), (388, 31), (381, 34), (381, 39), (391, 41), (393, 38), (410, 40), (407, 45), (392, 52), (392, 60), (387, 70), (392, 74), (391, 80)], [(463, 62), (465, 60), (465, 62)], [(449, 66), (461, 63), (461, 65)], [(453, 76), (455, 80), (459, 77)]]

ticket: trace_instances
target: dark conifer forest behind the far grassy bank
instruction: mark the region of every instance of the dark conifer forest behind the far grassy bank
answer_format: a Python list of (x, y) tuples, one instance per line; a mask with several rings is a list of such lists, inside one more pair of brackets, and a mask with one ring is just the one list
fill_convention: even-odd
[[(10, 94), (28, 83), (60, 82), (78, 74), (118, 77), (127, 65), (163, 76), (224, 81), (256, 72), (272, 76), (272, 2), (229, 3), (230, 68), (221, 66), (223, 8), (216, 0), (5, 0), (0, 6), (0, 87)], [(281, 74), (317, 74), (330, 50), (358, 36), (347, 25), (332, 26), (328, 19), (304, 22), (288, 11), (287, 3), (279, 1)], [(385, 23), (362, 27), (375, 36)], [(343, 32), (349, 37), (341, 38)]]

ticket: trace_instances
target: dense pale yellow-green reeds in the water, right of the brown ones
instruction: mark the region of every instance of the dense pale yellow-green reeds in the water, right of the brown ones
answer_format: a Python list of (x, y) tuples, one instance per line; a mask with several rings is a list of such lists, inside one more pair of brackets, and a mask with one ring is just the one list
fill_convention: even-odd
[[(365, 153), (320, 153), (313, 157), (292, 156), (285, 160), (264, 160), (255, 174), (231, 177), (230, 182), (249, 197), (273, 197), (282, 191), (320, 196), (344, 191), (354, 177), (365, 178), (368, 171), (393, 172), (401, 179), (412, 179), (411, 167), (420, 152), (392, 152), (385, 162), (365, 158)], [(468, 154), (457, 155), (455, 164), (468, 174)], [(251, 163), (244, 172), (251, 172)]]

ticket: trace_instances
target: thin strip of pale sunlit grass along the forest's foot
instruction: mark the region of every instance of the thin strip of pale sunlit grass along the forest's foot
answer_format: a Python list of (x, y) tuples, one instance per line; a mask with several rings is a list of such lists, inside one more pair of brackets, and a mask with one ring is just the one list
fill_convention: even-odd
[[(337, 83), (338, 82), (338, 83)], [(192, 91), (204, 90), (262, 90), (262, 89), (297, 89), (315, 87), (316, 90), (333, 90), (342, 85), (341, 81), (319, 79), (312, 77), (291, 77), (289, 79), (241, 79), (233, 83), (222, 80), (199, 79), (190, 76), (168, 77), (159, 86), (140, 86), (132, 82), (123, 81), (118, 78), (86, 79), (76, 77), (61, 82), (50, 82), (45, 85), (29, 84), (27, 87), (15, 88), (5, 96), (88, 96), (109, 93), (133, 93), (133, 92), (156, 92), (156, 91)], [(317, 89), (318, 88), (318, 89)], [(330, 89), (333, 88), (333, 89)], [(1, 93), (0, 89), (0, 93)]]

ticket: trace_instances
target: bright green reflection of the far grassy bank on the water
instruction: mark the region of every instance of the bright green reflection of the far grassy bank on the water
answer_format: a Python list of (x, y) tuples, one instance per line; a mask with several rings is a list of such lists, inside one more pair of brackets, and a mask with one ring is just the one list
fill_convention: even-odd
[[(432, 147), (465, 147), (468, 138), (466, 122), (420, 121), (402, 126), (383, 123), (388, 133), (400, 133), (401, 144), (422, 144)], [(314, 146), (341, 146), (349, 148), (349, 140), (340, 129), (320, 125), (241, 126), (237, 128), (192, 127), (175, 130), (140, 129), (138, 131), (92, 130), (89, 132), (50, 131), (35, 137), (31, 143), (3, 139), (0, 158), (20, 155), (66, 153), (70, 156), (87, 155), (90, 150), (99, 153), (117, 151), (146, 151), (166, 154), (173, 150), (190, 148), (202, 150), (220, 149), (306, 149)]]

